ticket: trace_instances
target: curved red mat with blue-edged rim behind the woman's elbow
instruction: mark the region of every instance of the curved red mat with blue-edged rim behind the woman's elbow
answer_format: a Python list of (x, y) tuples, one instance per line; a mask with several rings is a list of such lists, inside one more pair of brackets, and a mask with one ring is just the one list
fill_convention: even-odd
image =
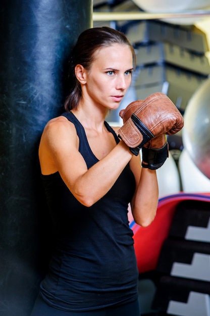
[(137, 225), (129, 212), (130, 228), (134, 232), (134, 248), (139, 273), (155, 269), (163, 242), (169, 234), (176, 206), (183, 200), (210, 202), (210, 192), (201, 194), (179, 193), (161, 198), (156, 217), (148, 227)]

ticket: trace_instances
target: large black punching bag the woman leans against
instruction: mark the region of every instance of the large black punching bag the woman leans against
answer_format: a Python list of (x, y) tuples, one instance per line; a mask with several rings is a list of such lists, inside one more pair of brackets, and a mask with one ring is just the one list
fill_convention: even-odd
[(51, 240), (38, 144), (63, 111), (66, 61), (92, 26), (92, 1), (1, 0), (0, 25), (0, 315), (28, 316)]

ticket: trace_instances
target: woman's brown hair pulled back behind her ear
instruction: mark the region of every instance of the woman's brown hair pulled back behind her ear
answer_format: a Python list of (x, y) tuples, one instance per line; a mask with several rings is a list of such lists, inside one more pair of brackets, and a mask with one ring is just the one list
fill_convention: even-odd
[(102, 46), (109, 46), (114, 43), (126, 44), (130, 47), (135, 65), (136, 57), (134, 48), (122, 32), (103, 26), (87, 29), (79, 35), (72, 49), (70, 59), (69, 80), (71, 89), (64, 104), (67, 112), (77, 107), (81, 97), (81, 86), (75, 76), (76, 65), (82, 65), (86, 70), (89, 70), (94, 61), (95, 51)]

